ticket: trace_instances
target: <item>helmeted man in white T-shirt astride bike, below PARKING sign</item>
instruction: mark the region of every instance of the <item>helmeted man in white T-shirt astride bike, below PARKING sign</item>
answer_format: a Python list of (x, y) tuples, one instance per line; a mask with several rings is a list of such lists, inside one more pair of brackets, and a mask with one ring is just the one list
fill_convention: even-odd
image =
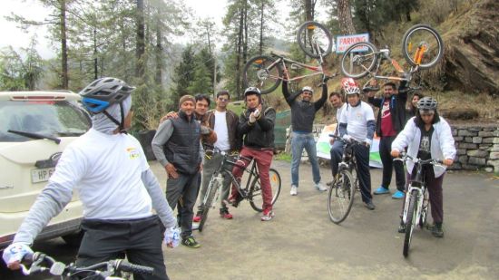
[[(339, 117), (339, 135), (343, 140), (357, 140), (361, 145), (355, 145), (353, 152), (357, 159), (357, 176), (360, 185), (362, 201), (369, 210), (376, 207), (372, 201), (371, 195), (371, 173), (369, 171), (369, 148), (373, 141), (375, 131), (375, 118), (371, 106), (366, 102), (360, 101), (360, 89), (352, 78), (343, 79), (342, 91), (347, 95), (348, 105)], [(343, 147), (337, 147), (331, 150), (331, 162), (338, 166), (343, 154)], [(338, 170), (337, 170), (338, 172)], [(336, 177), (337, 174), (333, 174)]]

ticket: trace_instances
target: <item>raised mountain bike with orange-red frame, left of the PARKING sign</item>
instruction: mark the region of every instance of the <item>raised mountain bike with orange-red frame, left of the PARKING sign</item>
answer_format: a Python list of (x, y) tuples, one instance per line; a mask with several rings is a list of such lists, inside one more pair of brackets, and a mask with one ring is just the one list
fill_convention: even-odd
[[(243, 84), (257, 87), (262, 94), (273, 92), (281, 81), (289, 82), (289, 92), (298, 92), (298, 82), (313, 77), (310, 84), (318, 85), (336, 74), (324, 72), (324, 57), (331, 53), (332, 39), (328, 29), (316, 22), (306, 22), (298, 27), (297, 41), (308, 56), (316, 58), (316, 64), (299, 63), (277, 53), (258, 55), (244, 66)], [(289, 64), (289, 66), (288, 66)], [(307, 73), (302, 74), (302, 71)]]

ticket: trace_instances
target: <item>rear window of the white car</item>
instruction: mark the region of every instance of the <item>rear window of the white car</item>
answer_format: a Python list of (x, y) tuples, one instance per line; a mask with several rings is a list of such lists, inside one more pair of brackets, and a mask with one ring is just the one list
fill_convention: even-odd
[(32, 140), (17, 130), (54, 137), (79, 136), (91, 121), (75, 101), (0, 101), (0, 142)]

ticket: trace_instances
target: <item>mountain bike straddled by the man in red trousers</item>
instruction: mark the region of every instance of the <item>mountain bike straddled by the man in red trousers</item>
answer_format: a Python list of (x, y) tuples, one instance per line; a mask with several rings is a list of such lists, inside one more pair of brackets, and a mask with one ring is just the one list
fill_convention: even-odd
[[(257, 169), (257, 164), (255, 160), (252, 160), (252, 164), (250, 168), (245, 168), (242, 164), (241, 159), (245, 159), (246, 161), (251, 161), (251, 159), (245, 158), (240, 155), (231, 156), (230, 154), (218, 150), (206, 150), (206, 154), (208, 157), (213, 156), (214, 154), (220, 154), (223, 159), (220, 162), (220, 166), (215, 169), (213, 172), (213, 176), (210, 179), (210, 183), (208, 184), (208, 188), (206, 189), (206, 195), (202, 200), (204, 205), (203, 211), (201, 213), (200, 226), (198, 230), (201, 232), (204, 227), (206, 220), (208, 219), (208, 213), (210, 212), (210, 208), (215, 208), (218, 204), (215, 203), (220, 198), (220, 189), (222, 187), (223, 179), (225, 176), (230, 177), (230, 182), (235, 186), (240, 194), (241, 199), (246, 199), (249, 201), (249, 205), (257, 212), (262, 211), (262, 203), (263, 200), (261, 198), (261, 184), (259, 181), (259, 171)], [(246, 179), (245, 187), (242, 187), (240, 181), (232, 175), (232, 169), (234, 167), (238, 167), (240, 169), (244, 169), (244, 171), (248, 175), (248, 179)], [(270, 178), (270, 186), (272, 188), (272, 205), (276, 203), (276, 200), (279, 198), (280, 193), (280, 175), (278, 170), (270, 169), (269, 170), (269, 178)], [(226, 204), (228, 202), (225, 202)]]

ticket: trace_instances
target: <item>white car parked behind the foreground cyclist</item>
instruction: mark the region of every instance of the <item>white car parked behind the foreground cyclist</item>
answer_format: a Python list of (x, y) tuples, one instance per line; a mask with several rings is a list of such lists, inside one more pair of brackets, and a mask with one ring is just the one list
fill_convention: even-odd
[[(8, 246), (64, 148), (92, 126), (73, 92), (0, 92), (0, 251)], [(73, 196), (37, 240), (78, 243), (82, 203)]]

